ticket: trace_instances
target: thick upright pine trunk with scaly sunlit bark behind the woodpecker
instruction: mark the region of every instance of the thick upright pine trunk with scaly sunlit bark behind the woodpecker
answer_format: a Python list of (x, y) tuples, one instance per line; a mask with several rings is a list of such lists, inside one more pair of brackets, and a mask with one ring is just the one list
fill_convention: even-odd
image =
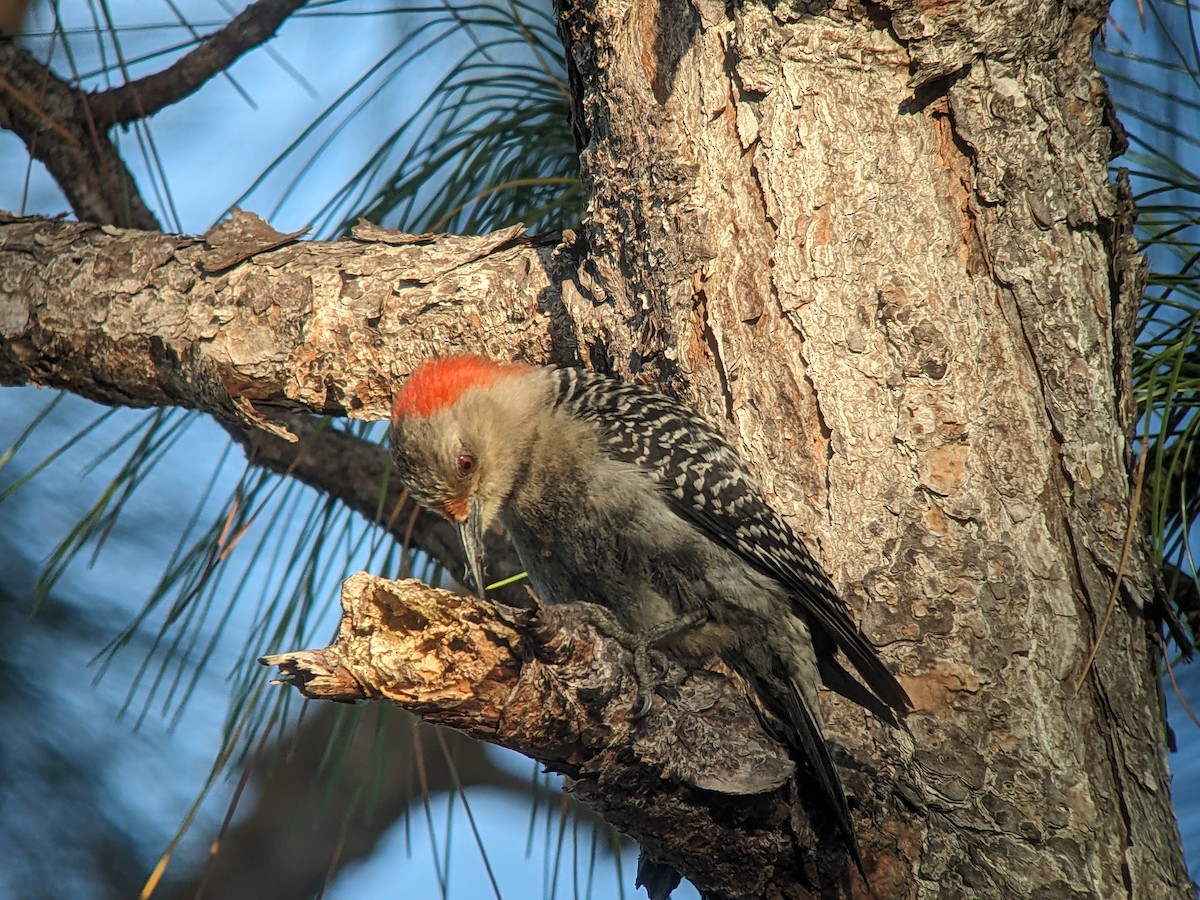
[(905, 676), (928, 816), (860, 824), (902, 893), (1188, 893), (1122, 553), (1141, 284), (1106, 5), (727, 8), (563, 10), (586, 289), (626, 325), (587, 344), (727, 420)]

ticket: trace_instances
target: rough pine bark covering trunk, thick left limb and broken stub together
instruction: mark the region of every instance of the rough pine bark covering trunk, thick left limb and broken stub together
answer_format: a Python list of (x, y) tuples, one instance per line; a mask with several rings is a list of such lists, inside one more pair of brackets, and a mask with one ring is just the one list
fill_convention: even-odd
[[(380, 418), (450, 348), (660, 382), (744, 449), (916, 700), (910, 739), (823, 698), (880, 895), (1187, 895), (1150, 563), (1127, 541), (1140, 264), (1091, 56), (1105, 11), (564, 2), (580, 235), (204, 246), (5, 221), (0, 382), (276, 430), (281, 408)], [(542, 619), (472, 607), (484, 637), (445, 656), (420, 636), (448, 628), (426, 593), (367, 594), (344, 601), (343, 638), (415, 629), (430, 667), (343, 641), (278, 660), (304, 690), (335, 673), (347, 697), (520, 732), (713, 895), (864, 890), (793, 858), (809, 833), (781, 791), (714, 796), (572, 700), (619, 695), (624, 670), (593, 667), (612, 648), (569, 611), (551, 616), (560, 647)]]

